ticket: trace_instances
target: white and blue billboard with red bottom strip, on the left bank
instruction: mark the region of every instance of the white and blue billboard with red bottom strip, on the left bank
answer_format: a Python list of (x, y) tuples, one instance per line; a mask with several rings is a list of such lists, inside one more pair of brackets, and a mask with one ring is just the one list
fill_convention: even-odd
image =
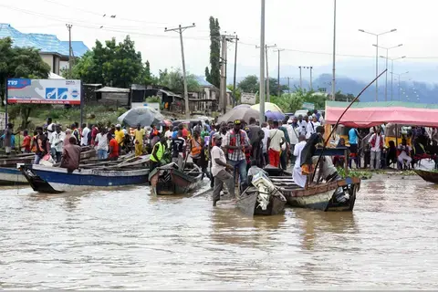
[(68, 79), (7, 79), (7, 103), (80, 104), (81, 82)]

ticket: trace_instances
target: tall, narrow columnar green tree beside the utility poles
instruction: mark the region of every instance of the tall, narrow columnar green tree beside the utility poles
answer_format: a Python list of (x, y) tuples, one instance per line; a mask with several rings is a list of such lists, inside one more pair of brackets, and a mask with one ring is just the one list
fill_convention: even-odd
[(221, 86), (221, 26), (210, 16), (210, 71), (205, 68), (205, 78), (216, 88)]

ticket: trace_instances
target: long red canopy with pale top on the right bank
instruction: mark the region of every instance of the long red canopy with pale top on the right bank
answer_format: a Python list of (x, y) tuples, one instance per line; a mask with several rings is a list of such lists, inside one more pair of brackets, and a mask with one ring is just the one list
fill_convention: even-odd
[[(348, 106), (349, 102), (327, 101), (326, 122), (336, 124)], [(370, 128), (384, 122), (438, 127), (438, 105), (401, 101), (356, 102), (339, 121), (355, 128)]]

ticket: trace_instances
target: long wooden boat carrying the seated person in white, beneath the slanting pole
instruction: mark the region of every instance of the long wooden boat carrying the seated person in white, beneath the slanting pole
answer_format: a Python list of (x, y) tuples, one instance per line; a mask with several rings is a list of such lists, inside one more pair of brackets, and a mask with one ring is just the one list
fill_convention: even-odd
[(322, 211), (352, 211), (356, 202), (356, 193), (360, 190), (360, 178), (348, 177), (329, 183), (311, 184), (301, 188), (292, 179), (290, 172), (278, 169), (265, 169), (269, 179), (286, 197), (292, 207), (316, 209)]

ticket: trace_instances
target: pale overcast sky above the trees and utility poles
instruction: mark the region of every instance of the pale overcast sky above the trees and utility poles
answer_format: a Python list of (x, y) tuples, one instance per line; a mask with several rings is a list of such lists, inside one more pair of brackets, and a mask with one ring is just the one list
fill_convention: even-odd
[[(25, 33), (54, 34), (93, 47), (95, 40), (126, 35), (135, 41), (153, 73), (181, 68), (179, 35), (165, 27), (195, 27), (183, 33), (186, 68), (203, 75), (209, 63), (210, 16), (219, 19), (222, 32), (239, 37), (237, 76), (259, 72), (260, 0), (0, 0), (0, 22)], [(333, 50), (333, 0), (266, 0), (266, 44), (281, 52), (281, 76), (298, 77), (298, 66), (312, 66), (314, 76), (331, 74)], [(395, 72), (409, 70), (412, 78), (434, 82), (438, 68), (438, 31), (431, 26), (438, 10), (436, 0), (337, 0), (337, 75), (371, 80), (375, 77), (376, 37), (359, 32), (382, 33), (381, 47), (393, 48), (389, 57)], [(104, 16), (106, 15), (106, 16)], [(115, 18), (111, 18), (115, 15)], [(100, 28), (103, 26), (102, 28)], [(232, 75), (235, 45), (228, 46), (228, 75)], [(379, 55), (386, 55), (381, 49)], [(269, 74), (276, 76), (278, 55), (269, 50)], [(391, 63), (390, 63), (391, 64)], [(385, 67), (380, 59), (380, 69)], [(307, 77), (308, 70), (303, 71)]]

